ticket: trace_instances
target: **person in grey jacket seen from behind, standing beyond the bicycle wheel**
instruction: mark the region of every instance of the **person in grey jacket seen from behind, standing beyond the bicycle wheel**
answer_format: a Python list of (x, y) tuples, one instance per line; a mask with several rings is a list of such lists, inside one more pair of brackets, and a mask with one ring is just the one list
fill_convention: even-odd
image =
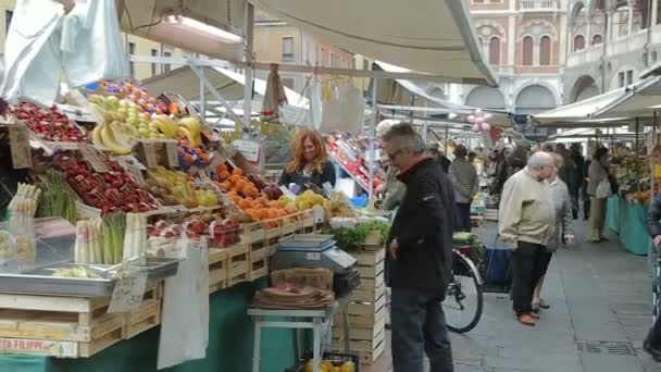
[(454, 230), (458, 232), (471, 231), (471, 202), (477, 194), (479, 182), (475, 166), (466, 160), (465, 146), (459, 145), (454, 149), (454, 161), (450, 165), (450, 182), (454, 188), (454, 202), (457, 206), (457, 221)]

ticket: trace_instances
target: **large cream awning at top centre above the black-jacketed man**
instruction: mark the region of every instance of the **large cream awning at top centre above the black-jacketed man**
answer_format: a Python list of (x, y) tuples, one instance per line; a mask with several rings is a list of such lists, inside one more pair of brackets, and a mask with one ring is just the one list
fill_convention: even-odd
[(465, 1), (250, 0), (337, 47), (449, 83), (496, 85)]

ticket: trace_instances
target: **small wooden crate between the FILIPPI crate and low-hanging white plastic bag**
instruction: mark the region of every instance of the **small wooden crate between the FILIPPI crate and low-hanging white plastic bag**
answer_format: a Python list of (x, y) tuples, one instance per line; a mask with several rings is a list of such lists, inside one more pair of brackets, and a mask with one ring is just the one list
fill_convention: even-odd
[(161, 309), (163, 306), (162, 293), (159, 290), (160, 283), (157, 287), (147, 290), (142, 297), (140, 309), (135, 313), (124, 314), (124, 327), (122, 328), (122, 338), (129, 339), (140, 333), (151, 330), (161, 324)]

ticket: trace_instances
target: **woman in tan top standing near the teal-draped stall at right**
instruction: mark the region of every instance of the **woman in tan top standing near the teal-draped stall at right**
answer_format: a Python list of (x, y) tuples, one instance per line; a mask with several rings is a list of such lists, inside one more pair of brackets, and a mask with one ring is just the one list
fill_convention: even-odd
[(608, 149), (600, 147), (595, 151), (588, 169), (587, 193), (590, 196), (590, 238), (591, 243), (608, 241), (603, 236), (607, 200), (613, 193), (609, 182)]

